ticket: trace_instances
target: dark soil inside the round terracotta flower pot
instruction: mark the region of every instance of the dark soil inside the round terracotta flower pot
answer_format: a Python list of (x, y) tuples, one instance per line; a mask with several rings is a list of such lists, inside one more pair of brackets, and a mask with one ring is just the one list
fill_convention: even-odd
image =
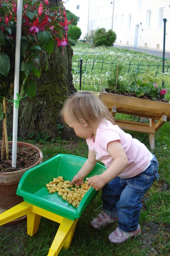
[[(0, 146), (1, 152), (1, 146)], [(17, 147), (16, 168), (12, 168), (12, 145), (9, 145), (9, 160), (0, 159), (0, 172), (13, 172), (33, 165), (39, 158), (34, 148)]]

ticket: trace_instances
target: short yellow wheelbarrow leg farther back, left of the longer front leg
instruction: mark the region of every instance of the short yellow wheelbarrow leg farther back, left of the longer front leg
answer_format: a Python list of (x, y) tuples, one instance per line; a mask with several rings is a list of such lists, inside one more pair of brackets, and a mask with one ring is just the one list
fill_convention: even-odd
[(35, 235), (38, 231), (40, 219), (41, 216), (34, 212), (27, 214), (27, 234), (29, 236)]

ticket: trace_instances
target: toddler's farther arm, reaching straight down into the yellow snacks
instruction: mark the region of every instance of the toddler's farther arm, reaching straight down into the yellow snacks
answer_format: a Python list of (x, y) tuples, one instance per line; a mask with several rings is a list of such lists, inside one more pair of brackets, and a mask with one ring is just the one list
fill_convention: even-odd
[(73, 177), (71, 183), (80, 185), (84, 182), (84, 178), (92, 171), (95, 167), (97, 160), (95, 154), (92, 151), (88, 151), (88, 159), (85, 161), (79, 172)]

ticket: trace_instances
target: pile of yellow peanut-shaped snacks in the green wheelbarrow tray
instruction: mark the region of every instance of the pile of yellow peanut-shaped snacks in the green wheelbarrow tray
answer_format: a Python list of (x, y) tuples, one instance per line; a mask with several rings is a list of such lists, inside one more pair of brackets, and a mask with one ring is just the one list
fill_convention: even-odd
[(78, 207), (83, 196), (88, 189), (90, 189), (87, 185), (87, 181), (82, 185), (75, 185), (73, 187), (73, 184), (70, 184), (69, 180), (64, 180), (62, 176), (53, 178), (52, 181), (46, 184), (46, 188), (49, 190), (50, 194), (58, 192), (58, 195), (62, 196), (62, 199), (66, 200), (74, 207)]

